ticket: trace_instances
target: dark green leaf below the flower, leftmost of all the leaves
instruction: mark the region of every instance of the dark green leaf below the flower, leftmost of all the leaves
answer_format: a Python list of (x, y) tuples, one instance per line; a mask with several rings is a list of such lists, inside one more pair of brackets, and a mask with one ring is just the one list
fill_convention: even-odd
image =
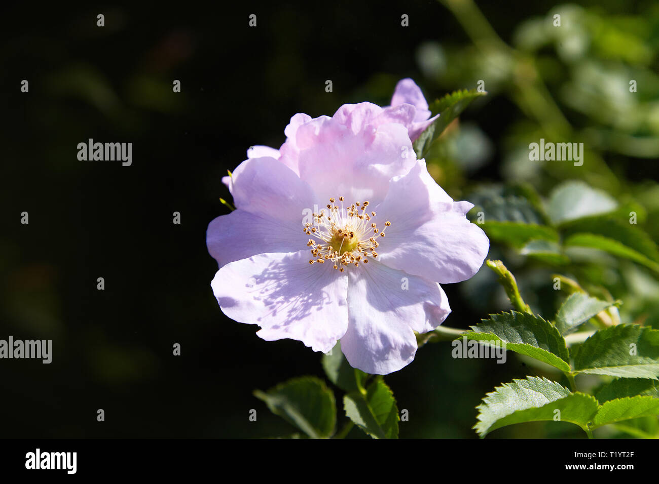
[(325, 383), (316, 377), (294, 378), (254, 396), (266, 402), (270, 411), (295, 425), (312, 439), (334, 433), (336, 401)]

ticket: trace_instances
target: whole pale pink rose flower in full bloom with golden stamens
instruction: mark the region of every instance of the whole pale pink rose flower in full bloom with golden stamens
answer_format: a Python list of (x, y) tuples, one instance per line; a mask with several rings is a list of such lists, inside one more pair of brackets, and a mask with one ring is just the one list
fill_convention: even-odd
[(454, 202), (416, 159), (411, 136), (432, 122), (427, 107), (403, 80), (391, 107), (297, 114), (279, 150), (250, 148), (225, 180), (237, 209), (207, 231), (225, 315), (314, 351), (340, 340), (367, 373), (414, 359), (414, 332), (451, 312), (440, 283), (472, 277), (489, 250), (465, 217), (473, 205)]

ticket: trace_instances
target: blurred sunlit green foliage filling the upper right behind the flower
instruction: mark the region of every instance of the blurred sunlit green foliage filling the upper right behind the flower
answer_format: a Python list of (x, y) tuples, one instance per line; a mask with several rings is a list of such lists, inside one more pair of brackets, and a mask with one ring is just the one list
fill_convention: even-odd
[[(488, 96), (474, 103), (480, 109), (469, 112), (466, 129), (456, 124), (431, 147), (431, 173), (476, 205), (470, 216), (494, 242), (490, 258), (500, 254), (511, 267), (536, 313), (565, 300), (552, 290), (559, 273), (604, 300), (622, 300), (619, 321), (659, 328), (659, 5), (636, 14), (559, 5), (521, 20), (504, 43), (470, 0), (443, 3), (471, 42), (424, 43), (419, 67), (438, 90), (484, 81)], [(478, 119), (502, 106), (513, 114), (500, 115), (505, 128), (490, 140)], [(582, 142), (583, 165), (531, 161), (529, 145), (540, 138)], [(461, 149), (474, 145), (487, 148), (477, 162), (478, 148)], [(483, 167), (496, 159), (500, 181), (492, 182)], [(480, 272), (463, 290), (494, 312), (502, 291)], [(643, 417), (633, 425), (648, 437), (658, 435), (656, 423)]]

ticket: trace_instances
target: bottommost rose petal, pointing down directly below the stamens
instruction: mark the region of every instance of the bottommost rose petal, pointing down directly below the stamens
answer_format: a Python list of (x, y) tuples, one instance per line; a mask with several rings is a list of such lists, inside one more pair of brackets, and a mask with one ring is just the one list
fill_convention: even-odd
[(353, 367), (367, 373), (386, 375), (410, 363), (416, 353), (414, 331), (434, 329), (451, 312), (436, 282), (378, 261), (346, 272), (349, 324), (341, 351)]

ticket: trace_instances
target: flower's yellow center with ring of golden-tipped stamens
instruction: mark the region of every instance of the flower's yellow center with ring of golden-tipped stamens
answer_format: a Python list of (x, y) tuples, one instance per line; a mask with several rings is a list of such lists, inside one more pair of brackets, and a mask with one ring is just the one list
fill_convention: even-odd
[(360, 262), (368, 263), (368, 257), (378, 257), (378, 236), (384, 237), (384, 230), (391, 222), (384, 223), (384, 229), (372, 221), (376, 216), (374, 211), (367, 212), (368, 202), (355, 202), (343, 207), (343, 197), (339, 197), (341, 207), (334, 205), (335, 198), (330, 198), (327, 210), (314, 213), (314, 223), (304, 224), (304, 233), (315, 237), (310, 238), (307, 246), (311, 248), (314, 259), (310, 264), (322, 264), (330, 261), (334, 269), (343, 272), (343, 266)]

